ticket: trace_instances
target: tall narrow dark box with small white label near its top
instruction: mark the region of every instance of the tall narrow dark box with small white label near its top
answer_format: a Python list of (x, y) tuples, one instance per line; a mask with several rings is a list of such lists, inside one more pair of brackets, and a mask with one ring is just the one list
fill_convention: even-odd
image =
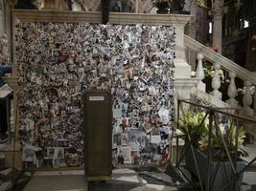
[(112, 104), (106, 91), (88, 91), (84, 101), (84, 159), (87, 177), (111, 175)]

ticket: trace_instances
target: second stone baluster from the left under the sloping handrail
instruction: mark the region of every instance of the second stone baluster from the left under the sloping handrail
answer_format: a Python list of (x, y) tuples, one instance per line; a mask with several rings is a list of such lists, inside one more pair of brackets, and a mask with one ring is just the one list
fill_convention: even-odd
[(218, 63), (214, 63), (213, 67), (214, 67), (215, 73), (212, 79), (212, 88), (214, 89), (214, 91), (211, 93), (211, 95), (221, 99), (222, 94), (219, 91), (219, 88), (221, 88), (221, 77), (219, 75), (219, 69), (221, 68), (221, 65)]

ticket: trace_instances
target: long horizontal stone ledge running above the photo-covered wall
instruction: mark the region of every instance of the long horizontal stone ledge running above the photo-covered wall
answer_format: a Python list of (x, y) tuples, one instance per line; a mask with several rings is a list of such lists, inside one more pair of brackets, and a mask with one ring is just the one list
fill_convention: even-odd
[[(85, 11), (28, 11), (12, 10), (15, 18), (24, 22), (86, 22), (102, 23), (101, 12)], [(109, 24), (185, 25), (191, 19), (187, 14), (147, 14), (110, 12)]]

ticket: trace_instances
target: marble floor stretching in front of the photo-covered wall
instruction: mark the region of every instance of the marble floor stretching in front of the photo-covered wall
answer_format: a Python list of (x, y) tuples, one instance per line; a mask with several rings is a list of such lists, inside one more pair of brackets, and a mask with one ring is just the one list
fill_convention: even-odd
[(163, 180), (147, 180), (140, 172), (130, 169), (113, 171), (112, 179), (86, 183), (83, 171), (36, 172), (24, 191), (175, 191), (171, 178), (163, 173), (154, 176)]

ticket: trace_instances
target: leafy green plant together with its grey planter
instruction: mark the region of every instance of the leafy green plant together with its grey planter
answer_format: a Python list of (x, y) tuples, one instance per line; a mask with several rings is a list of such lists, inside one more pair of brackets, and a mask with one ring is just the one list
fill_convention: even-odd
[[(209, 118), (204, 112), (196, 111), (194, 114), (185, 112), (182, 120), (179, 121), (179, 129), (186, 134), (186, 143), (189, 142), (192, 147), (186, 145), (185, 161), (187, 168), (201, 180), (204, 186), (207, 184), (207, 169), (209, 151)], [(202, 120), (204, 119), (204, 120)], [(230, 120), (226, 123), (216, 124), (213, 122), (212, 138), (211, 138), (211, 160), (210, 160), (210, 187), (212, 191), (239, 190), (239, 183), (233, 183), (233, 170), (229, 157), (234, 162), (236, 172), (244, 169), (245, 161), (241, 157), (246, 157), (247, 153), (243, 150), (244, 129), (238, 128), (238, 144), (236, 147), (237, 127)], [(188, 137), (189, 135), (189, 137)], [(222, 142), (222, 138), (226, 144), (228, 154)], [(193, 150), (192, 150), (193, 149)], [(194, 152), (193, 152), (194, 151)], [(198, 165), (198, 171), (196, 162)], [(236, 181), (241, 182), (243, 173), (236, 174)]]

